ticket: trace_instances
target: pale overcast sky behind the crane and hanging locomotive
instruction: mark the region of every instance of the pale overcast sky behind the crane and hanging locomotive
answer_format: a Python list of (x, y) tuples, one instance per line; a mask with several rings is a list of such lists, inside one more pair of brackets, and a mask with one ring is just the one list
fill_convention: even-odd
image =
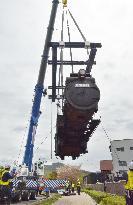
[[(0, 0), (1, 162), (21, 162), (24, 154), (51, 6), (52, 0)], [(92, 70), (101, 91), (98, 114), (102, 125), (111, 140), (133, 138), (133, 2), (68, 0), (68, 6), (87, 40), (102, 43), (96, 55), (97, 65)], [(54, 41), (60, 41), (61, 14), (59, 4)], [(71, 19), (70, 31), (72, 41), (82, 41)], [(76, 52), (75, 57), (87, 60), (86, 51)], [(47, 71), (44, 86), (51, 84), (50, 66)], [(64, 75), (68, 76), (69, 70)], [(52, 110), (54, 138), (55, 104)], [(51, 102), (47, 97), (42, 99), (41, 111), (34, 156), (35, 160), (39, 157), (49, 160)], [(111, 159), (108, 147), (109, 140), (99, 125), (88, 142), (88, 154), (75, 161), (67, 158), (64, 162), (81, 164), (86, 170), (99, 170), (100, 160)], [(53, 156), (53, 161), (60, 160)]]

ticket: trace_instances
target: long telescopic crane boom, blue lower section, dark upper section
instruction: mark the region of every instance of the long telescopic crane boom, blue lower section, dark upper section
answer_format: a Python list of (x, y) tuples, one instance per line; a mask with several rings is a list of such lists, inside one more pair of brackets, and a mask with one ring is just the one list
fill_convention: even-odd
[(32, 106), (32, 113), (31, 113), (31, 118), (30, 118), (27, 143), (25, 146), (25, 153), (24, 153), (24, 158), (23, 158), (23, 163), (22, 163), (28, 167), (29, 171), (31, 171), (32, 169), (34, 137), (36, 134), (38, 119), (41, 114), (40, 112), (41, 99), (42, 99), (42, 95), (45, 94), (43, 83), (44, 83), (44, 78), (45, 78), (45, 73), (46, 73), (46, 68), (47, 68), (47, 61), (48, 61), (48, 54), (49, 54), (48, 43), (51, 42), (51, 39), (52, 39), (52, 34), (54, 30), (54, 22), (55, 22), (55, 17), (56, 17), (56, 12), (57, 12), (59, 1), (53, 0), (52, 3), (53, 5), (51, 9), (51, 15), (50, 15), (49, 25), (48, 25), (46, 39), (45, 39), (45, 46), (44, 46), (42, 60), (40, 64), (38, 81), (35, 86), (35, 96), (34, 96), (34, 101), (33, 101), (33, 106)]

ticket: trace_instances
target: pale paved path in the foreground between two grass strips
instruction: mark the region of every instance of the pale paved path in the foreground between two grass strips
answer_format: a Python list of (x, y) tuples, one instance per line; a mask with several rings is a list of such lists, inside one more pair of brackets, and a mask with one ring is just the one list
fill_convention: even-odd
[(63, 196), (53, 205), (96, 205), (96, 202), (87, 194)]

